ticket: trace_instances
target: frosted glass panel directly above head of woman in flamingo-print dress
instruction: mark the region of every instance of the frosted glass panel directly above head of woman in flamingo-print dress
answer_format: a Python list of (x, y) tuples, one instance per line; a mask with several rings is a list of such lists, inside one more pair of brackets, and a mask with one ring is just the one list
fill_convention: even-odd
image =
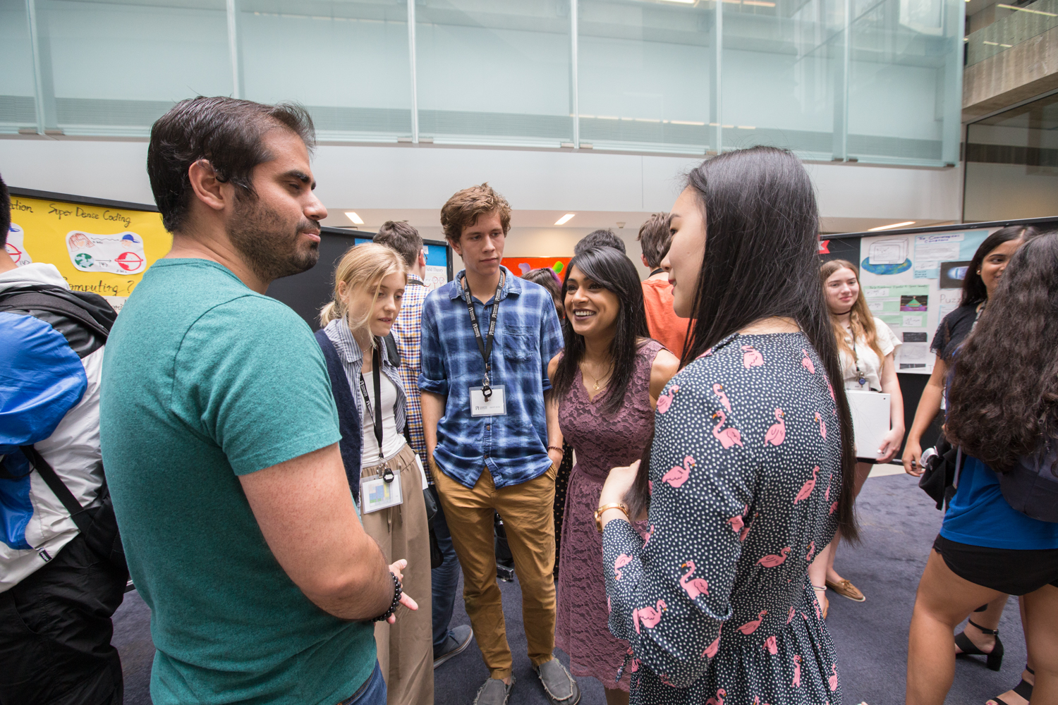
[(725, 0), (725, 149), (763, 144), (802, 159), (832, 159), (835, 129), (841, 131), (842, 6), (842, 0)]

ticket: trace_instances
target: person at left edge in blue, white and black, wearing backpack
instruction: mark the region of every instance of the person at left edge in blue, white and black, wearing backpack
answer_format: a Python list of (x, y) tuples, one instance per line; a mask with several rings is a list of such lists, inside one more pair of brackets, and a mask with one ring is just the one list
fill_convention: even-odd
[(99, 452), (116, 314), (54, 264), (17, 267), (10, 227), (0, 180), (0, 703), (120, 705), (128, 570)]

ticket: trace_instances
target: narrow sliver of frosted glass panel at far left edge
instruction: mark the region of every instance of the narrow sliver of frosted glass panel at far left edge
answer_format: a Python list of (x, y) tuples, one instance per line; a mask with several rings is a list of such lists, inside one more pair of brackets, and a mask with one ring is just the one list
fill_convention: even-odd
[(25, 0), (0, 0), (0, 133), (34, 127), (33, 49)]

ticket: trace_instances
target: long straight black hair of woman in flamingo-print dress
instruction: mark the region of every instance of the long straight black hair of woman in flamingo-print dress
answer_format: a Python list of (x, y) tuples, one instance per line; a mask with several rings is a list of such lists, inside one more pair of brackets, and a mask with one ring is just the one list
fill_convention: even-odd
[[(831, 312), (819, 279), (819, 211), (811, 180), (789, 151), (752, 147), (704, 162), (687, 187), (705, 214), (706, 247), (680, 366), (728, 335), (771, 316), (797, 321), (826, 369), (841, 428), (842, 538), (859, 536), (853, 512), (856, 456)], [(625, 501), (649, 503), (650, 447)], [(633, 508), (630, 516), (638, 517)]]

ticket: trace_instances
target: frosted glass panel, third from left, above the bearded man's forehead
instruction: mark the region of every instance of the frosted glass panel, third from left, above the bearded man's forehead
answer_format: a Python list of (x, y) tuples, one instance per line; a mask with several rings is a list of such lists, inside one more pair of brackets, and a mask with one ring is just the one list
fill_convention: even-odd
[(297, 100), (321, 138), (412, 134), (407, 3), (239, 0), (243, 96)]

